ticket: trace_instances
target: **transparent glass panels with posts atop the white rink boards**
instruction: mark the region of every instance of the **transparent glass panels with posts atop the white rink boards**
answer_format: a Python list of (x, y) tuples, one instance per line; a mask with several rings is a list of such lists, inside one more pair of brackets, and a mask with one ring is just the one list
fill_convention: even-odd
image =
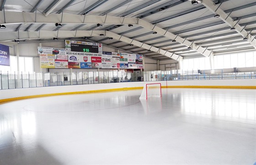
[(50, 87), (80, 84), (122, 83), (139, 81), (256, 79), (256, 72), (224, 73), (219, 70), (199, 71), (134, 71), (134, 72), (2, 72), (0, 89)]

